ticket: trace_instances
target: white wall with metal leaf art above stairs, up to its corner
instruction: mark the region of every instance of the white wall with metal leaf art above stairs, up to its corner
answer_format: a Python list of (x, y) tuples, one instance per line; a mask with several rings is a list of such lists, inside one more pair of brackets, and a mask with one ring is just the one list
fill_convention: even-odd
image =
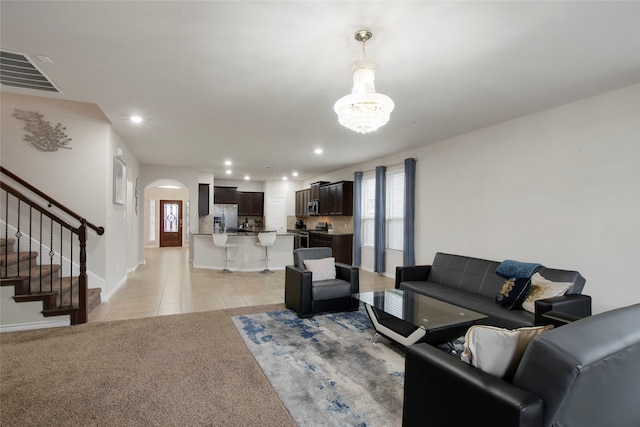
[[(2, 166), (97, 226), (105, 226), (109, 125), (95, 104), (2, 93), (0, 162)], [(43, 152), (24, 141), (25, 122), (14, 109), (37, 111), (51, 126), (61, 123), (71, 138), (67, 148)], [(69, 171), (73, 171), (69, 173)], [(104, 278), (105, 241), (88, 231), (87, 263)]]

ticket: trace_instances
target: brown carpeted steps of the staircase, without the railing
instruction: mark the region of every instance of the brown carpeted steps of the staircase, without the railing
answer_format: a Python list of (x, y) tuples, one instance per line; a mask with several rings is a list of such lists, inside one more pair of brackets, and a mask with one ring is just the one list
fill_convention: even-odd
[[(69, 315), (71, 324), (79, 323), (78, 276), (60, 277), (59, 264), (38, 264), (37, 258), (36, 251), (15, 252), (15, 239), (0, 238), (0, 285), (15, 287), (16, 302), (42, 301), (45, 317)], [(87, 290), (87, 313), (100, 304), (100, 292)]]

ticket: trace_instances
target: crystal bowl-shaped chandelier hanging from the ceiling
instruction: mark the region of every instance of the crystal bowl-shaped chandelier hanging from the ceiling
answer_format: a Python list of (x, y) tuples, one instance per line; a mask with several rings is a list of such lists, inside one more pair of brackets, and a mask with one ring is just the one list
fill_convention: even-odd
[(333, 106), (338, 121), (346, 128), (358, 133), (369, 133), (384, 126), (393, 111), (393, 100), (386, 95), (376, 93), (373, 84), (378, 66), (367, 59), (365, 43), (373, 37), (370, 31), (356, 32), (355, 39), (362, 42), (362, 58), (351, 64), (353, 90), (343, 96)]

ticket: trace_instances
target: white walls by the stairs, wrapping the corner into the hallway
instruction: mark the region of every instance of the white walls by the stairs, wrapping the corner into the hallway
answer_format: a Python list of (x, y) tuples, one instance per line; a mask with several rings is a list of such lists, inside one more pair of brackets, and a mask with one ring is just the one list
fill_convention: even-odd
[[(52, 126), (61, 123), (71, 138), (69, 149), (42, 152), (23, 141), (24, 122), (14, 109), (38, 111)], [(103, 299), (135, 268), (139, 242), (134, 216), (138, 162), (111, 129), (102, 111), (90, 103), (2, 93), (2, 166), (47, 193), (87, 221), (105, 228), (88, 232), (89, 287), (101, 287)], [(122, 151), (127, 165), (127, 202), (113, 204), (113, 157)]]

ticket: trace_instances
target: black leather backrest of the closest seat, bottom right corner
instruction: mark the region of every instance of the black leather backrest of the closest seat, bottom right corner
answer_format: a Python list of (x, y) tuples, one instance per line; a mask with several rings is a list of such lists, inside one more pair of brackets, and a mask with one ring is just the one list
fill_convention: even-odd
[(640, 426), (640, 304), (545, 332), (513, 384), (542, 397), (545, 426)]

